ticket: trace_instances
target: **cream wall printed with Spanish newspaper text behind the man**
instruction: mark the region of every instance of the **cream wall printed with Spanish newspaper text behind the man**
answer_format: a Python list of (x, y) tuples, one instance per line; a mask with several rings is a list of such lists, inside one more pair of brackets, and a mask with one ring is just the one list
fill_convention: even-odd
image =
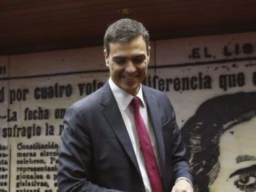
[[(256, 87), (256, 32), (151, 42), (145, 85), (180, 127), (207, 99)], [(101, 47), (0, 57), (0, 191), (56, 191), (64, 112), (103, 86)]]

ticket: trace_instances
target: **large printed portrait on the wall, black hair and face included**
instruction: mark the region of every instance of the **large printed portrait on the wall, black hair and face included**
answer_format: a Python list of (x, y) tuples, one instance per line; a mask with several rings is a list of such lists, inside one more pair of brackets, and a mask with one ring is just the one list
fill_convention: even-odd
[(181, 133), (195, 192), (256, 191), (256, 92), (208, 99)]

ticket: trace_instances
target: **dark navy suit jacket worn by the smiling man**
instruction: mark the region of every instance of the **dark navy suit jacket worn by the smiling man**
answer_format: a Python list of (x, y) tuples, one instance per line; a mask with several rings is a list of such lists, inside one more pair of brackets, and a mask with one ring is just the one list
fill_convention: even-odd
[[(192, 181), (186, 149), (169, 99), (142, 86), (155, 132), (164, 191), (178, 177)], [(121, 112), (106, 83), (75, 102), (64, 117), (58, 165), (59, 191), (145, 191)]]

